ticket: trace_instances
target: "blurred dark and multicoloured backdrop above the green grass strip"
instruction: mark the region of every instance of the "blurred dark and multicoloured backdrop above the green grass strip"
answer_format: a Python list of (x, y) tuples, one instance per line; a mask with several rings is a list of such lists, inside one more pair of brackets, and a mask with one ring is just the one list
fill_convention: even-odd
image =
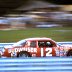
[(0, 0), (0, 29), (72, 26), (68, 0)]

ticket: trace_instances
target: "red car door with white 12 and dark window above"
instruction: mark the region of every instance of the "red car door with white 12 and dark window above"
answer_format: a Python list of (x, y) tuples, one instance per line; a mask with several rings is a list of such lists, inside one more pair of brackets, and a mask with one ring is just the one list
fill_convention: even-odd
[(55, 56), (55, 50), (51, 41), (38, 41), (38, 55), (41, 57)]

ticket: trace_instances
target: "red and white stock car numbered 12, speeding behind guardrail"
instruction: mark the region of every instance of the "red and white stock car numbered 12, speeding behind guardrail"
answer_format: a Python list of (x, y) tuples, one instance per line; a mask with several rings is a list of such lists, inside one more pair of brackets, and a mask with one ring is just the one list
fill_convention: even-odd
[(58, 45), (47, 37), (26, 38), (0, 50), (1, 57), (72, 56), (72, 47)]

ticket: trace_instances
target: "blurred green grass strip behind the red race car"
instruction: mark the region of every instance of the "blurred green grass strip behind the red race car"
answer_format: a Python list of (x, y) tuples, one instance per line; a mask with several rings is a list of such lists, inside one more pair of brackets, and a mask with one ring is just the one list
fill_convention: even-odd
[(72, 41), (72, 27), (0, 30), (0, 43), (17, 42), (29, 37), (49, 37), (55, 41)]

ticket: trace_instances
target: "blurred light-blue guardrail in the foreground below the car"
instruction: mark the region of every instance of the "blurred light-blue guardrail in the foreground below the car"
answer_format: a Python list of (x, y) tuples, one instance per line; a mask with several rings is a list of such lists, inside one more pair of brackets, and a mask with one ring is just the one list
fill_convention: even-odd
[(72, 72), (72, 58), (1, 58), (0, 72)]

